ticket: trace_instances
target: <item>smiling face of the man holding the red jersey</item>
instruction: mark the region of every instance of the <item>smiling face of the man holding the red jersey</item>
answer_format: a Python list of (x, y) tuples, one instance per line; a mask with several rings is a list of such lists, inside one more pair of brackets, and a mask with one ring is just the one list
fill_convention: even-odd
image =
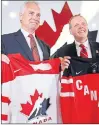
[(88, 35), (88, 25), (83, 17), (77, 16), (71, 20), (71, 34), (75, 39), (86, 39)]

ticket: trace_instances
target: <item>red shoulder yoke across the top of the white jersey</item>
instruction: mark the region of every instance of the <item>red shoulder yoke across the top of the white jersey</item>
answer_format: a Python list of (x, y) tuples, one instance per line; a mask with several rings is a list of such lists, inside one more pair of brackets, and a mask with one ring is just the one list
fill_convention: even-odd
[[(10, 64), (6, 64), (4, 62), (2, 62), (2, 74), (6, 75), (6, 79), (5, 76), (2, 75), (2, 84), (6, 82), (8, 82), (9, 80), (13, 80), (15, 78), (15, 76), (20, 76), (20, 75), (29, 75), (29, 74), (58, 74), (59, 73), (59, 68), (58, 66), (60, 65), (60, 59), (56, 58), (56, 59), (50, 59), (50, 60), (46, 60), (46, 61), (39, 61), (39, 62), (34, 62), (34, 61), (28, 61), (27, 59), (25, 59), (23, 56), (21, 56), (20, 54), (9, 54), (8, 55), (9, 59), (10, 59)], [(50, 64), (51, 65), (51, 69), (50, 70), (45, 70), (43, 71), (42, 69), (33, 69), (33, 67), (31, 66), (33, 65), (38, 65), (38, 64)], [(56, 66), (57, 63), (57, 66)], [(22, 69), (22, 70), (21, 70)], [(19, 71), (18, 71), (19, 70)], [(24, 72), (23, 72), (24, 70)], [(10, 72), (10, 74), (8, 74), (8, 72)]]

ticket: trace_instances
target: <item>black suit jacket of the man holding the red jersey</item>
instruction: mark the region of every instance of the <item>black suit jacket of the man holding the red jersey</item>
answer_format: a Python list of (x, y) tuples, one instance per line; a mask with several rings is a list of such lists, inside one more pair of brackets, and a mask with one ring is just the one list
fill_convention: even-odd
[[(97, 58), (97, 57), (99, 58), (99, 53), (96, 53), (97, 50), (99, 52), (99, 43), (89, 40), (89, 44), (91, 48), (92, 58)], [(77, 57), (75, 42), (73, 42), (72, 44), (63, 45), (53, 55), (54, 58), (64, 57), (64, 56)]]

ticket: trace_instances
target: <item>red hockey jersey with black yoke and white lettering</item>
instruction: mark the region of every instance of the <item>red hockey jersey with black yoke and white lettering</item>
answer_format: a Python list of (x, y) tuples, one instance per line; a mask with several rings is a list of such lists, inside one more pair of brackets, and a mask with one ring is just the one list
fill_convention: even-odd
[(99, 59), (72, 58), (61, 78), (63, 123), (99, 123)]

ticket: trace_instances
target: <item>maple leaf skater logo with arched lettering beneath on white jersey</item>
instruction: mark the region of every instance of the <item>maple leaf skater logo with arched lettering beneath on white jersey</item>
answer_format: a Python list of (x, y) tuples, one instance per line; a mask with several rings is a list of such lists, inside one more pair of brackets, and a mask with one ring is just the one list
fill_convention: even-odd
[(42, 93), (39, 94), (35, 90), (34, 95), (30, 95), (32, 104), (28, 101), (26, 104), (21, 104), (22, 110), (20, 112), (27, 116), (27, 123), (44, 123), (52, 120), (46, 113), (50, 106), (50, 98), (46, 99), (42, 96)]

